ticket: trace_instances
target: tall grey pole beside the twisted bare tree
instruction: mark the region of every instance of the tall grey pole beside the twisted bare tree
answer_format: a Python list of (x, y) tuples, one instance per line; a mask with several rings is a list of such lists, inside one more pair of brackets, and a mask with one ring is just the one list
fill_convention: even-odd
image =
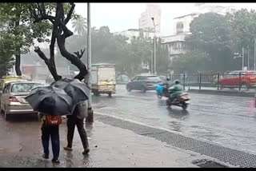
[[(90, 3), (87, 2), (87, 70), (88, 74), (86, 77), (86, 82), (91, 89), (91, 32), (90, 32)], [(91, 108), (91, 90), (88, 99), (88, 116), (86, 117), (86, 122), (94, 122), (94, 112)]]

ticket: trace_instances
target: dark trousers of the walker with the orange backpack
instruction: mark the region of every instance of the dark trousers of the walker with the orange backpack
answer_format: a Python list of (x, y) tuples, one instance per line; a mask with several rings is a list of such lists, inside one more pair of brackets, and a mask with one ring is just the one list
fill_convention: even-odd
[(41, 130), (43, 152), (49, 156), (49, 141), (51, 141), (54, 159), (58, 159), (60, 149), (58, 125), (42, 125)]

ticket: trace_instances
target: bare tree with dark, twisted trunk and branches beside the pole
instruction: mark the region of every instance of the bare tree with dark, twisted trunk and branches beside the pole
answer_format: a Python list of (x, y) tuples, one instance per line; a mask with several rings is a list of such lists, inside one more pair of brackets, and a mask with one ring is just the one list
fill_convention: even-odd
[[(48, 20), (53, 25), (50, 41), (50, 58), (47, 58), (39, 47), (35, 47), (34, 51), (44, 60), (55, 81), (62, 79), (62, 76), (57, 73), (54, 60), (54, 46), (56, 41), (62, 56), (70, 61), (74, 66), (77, 66), (80, 71), (74, 78), (78, 78), (82, 81), (86, 74), (88, 74), (86, 65), (81, 61), (85, 50), (80, 50), (80, 52), (77, 51), (74, 52), (74, 54), (70, 54), (70, 52), (66, 50), (65, 46), (66, 38), (73, 35), (73, 32), (66, 27), (66, 24), (70, 22), (70, 18), (74, 13), (74, 6), (74, 2), (70, 2), (70, 8), (68, 9), (67, 14), (64, 12), (64, 3), (57, 3), (56, 6), (49, 3), (31, 3), (29, 6), (30, 14), (32, 18), (34, 18), (34, 22)], [(54, 11), (55, 16), (52, 16), (50, 14), (54, 8), (56, 9)]]

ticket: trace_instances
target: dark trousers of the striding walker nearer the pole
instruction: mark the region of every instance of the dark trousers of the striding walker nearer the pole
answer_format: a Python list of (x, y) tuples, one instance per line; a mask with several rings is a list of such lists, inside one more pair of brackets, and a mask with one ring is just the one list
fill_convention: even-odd
[(80, 135), (83, 149), (89, 147), (86, 129), (84, 128), (83, 119), (78, 119), (76, 116), (68, 116), (66, 125), (67, 125), (67, 146), (72, 148), (72, 142), (74, 137), (74, 127), (77, 125), (78, 133)]

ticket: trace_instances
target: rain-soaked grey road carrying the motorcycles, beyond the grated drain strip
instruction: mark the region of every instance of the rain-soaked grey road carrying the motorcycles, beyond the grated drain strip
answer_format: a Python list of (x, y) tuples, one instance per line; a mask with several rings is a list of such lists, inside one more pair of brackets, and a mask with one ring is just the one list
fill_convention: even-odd
[(94, 111), (169, 129), (184, 136), (211, 141), (250, 153), (256, 153), (256, 111), (253, 98), (226, 97), (190, 93), (187, 110), (166, 108), (154, 91), (126, 92), (118, 85), (113, 97), (93, 97)]

